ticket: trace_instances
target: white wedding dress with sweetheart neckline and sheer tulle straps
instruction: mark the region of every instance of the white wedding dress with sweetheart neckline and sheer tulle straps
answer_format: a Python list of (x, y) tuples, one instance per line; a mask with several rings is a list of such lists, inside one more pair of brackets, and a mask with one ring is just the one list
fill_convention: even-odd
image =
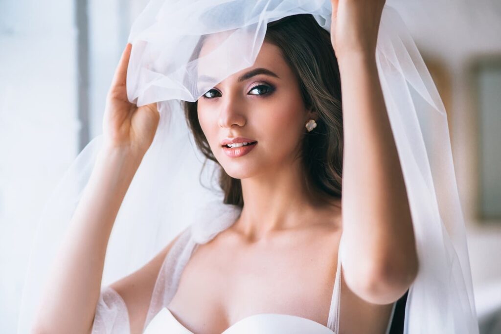
[[(341, 237), (340, 245), (342, 239)], [(156, 302), (152, 301), (150, 305), (145, 321), (146, 327), (143, 330), (144, 334), (194, 334), (176, 319), (168, 306), (176, 292), (181, 273), (198, 244), (190, 229), (187, 229), (167, 254), (155, 284), (153, 295), (156, 296)], [(342, 276), (341, 249), (340, 246), (327, 325), (296, 315), (258, 313), (246, 316), (233, 323), (222, 334), (333, 334), (339, 332), (340, 282)], [(390, 331), (395, 306), (396, 301), (393, 303), (386, 334)], [(110, 286), (101, 293), (92, 334), (130, 334), (127, 306), (120, 295)]]

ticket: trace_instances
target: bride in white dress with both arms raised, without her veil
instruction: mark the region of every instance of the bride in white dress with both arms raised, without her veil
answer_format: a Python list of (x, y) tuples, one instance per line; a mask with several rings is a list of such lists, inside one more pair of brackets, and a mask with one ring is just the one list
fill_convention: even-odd
[[(251, 67), (183, 103), (198, 148), (220, 166), (224, 203), (241, 212), (196, 247), (185, 230), (112, 283), (105, 291), (124, 305), (113, 318), (120, 327), (101, 307), (106, 247), (160, 120), (156, 103), (127, 98), (128, 44), (107, 96), (104, 144), (33, 331), (388, 332), (420, 266), (376, 67), (384, 3), (332, 0), (330, 35), (308, 14), (271, 22)], [(210, 64), (198, 71), (207, 77)], [(166, 274), (171, 298), (149, 314), (178, 248), (190, 256)]]

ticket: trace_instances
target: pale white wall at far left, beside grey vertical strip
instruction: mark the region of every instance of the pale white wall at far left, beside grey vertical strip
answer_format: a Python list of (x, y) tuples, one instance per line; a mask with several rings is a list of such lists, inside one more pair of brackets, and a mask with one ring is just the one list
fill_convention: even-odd
[(73, 2), (0, 2), (0, 331), (4, 333), (16, 332), (37, 216), (77, 154), (73, 17)]

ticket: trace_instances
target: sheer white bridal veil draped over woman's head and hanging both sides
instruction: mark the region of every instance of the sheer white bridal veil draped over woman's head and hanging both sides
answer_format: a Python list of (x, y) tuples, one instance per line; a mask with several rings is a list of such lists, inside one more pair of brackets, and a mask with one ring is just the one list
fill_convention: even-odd
[[(409, 289), (404, 332), (478, 333), (446, 112), (391, 3), (387, 2), (382, 13), (376, 62), (407, 189), (420, 265)], [(331, 11), (329, 0), (148, 3), (129, 36), (133, 48), (127, 95), (138, 106), (156, 102), (160, 123), (118, 212), (108, 243), (102, 287), (143, 266), (182, 230), (190, 230), (192, 242), (203, 243), (239, 213), (238, 207), (223, 204), (223, 192), (214, 178), (218, 166), (205, 161), (197, 149), (180, 100), (194, 102), (229, 75), (253, 66), (267, 23), (312, 14), (330, 32)], [(208, 43), (200, 53), (207, 39), (214, 43)], [(29, 331), (48, 269), (101, 145), (102, 136), (98, 136), (85, 147), (45, 206), (23, 291), (20, 333)], [(148, 319), (167, 298), (162, 294), (162, 284), (161, 270)], [(103, 305), (110, 306), (104, 294), (98, 308)], [(122, 324), (117, 319), (114, 324), (106, 324), (106, 317), (102, 318), (102, 332), (126, 332), (127, 318)]]

